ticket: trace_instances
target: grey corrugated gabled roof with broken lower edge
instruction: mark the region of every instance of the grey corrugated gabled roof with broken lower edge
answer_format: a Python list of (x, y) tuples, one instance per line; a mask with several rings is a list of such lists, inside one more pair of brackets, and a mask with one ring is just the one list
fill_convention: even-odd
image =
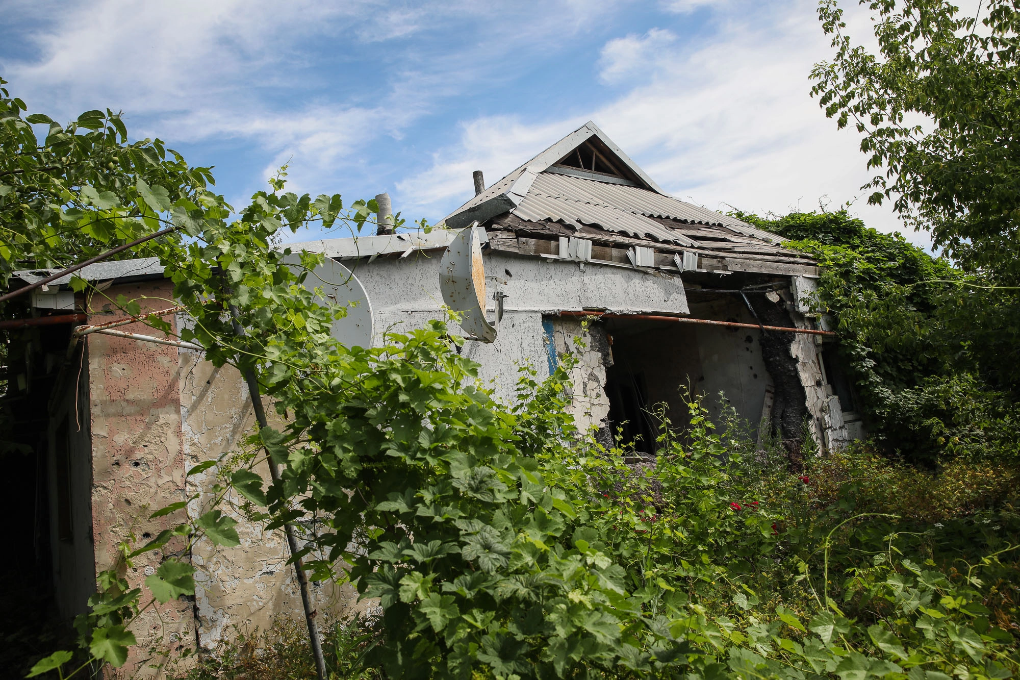
[(783, 248), (780, 236), (669, 196), (592, 122), (443, 222), (459, 229), (475, 221), (488, 231), (537, 238), (577, 236), (664, 251), (814, 264)]

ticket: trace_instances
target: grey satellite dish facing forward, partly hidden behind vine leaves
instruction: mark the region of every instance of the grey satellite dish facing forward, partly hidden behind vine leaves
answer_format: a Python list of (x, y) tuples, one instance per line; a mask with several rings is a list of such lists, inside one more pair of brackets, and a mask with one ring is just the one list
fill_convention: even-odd
[[(301, 256), (297, 253), (287, 255), (284, 263), (291, 268), (296, 276), (301, 276), (305, 270), (301, 266)], [(301, 284), (305, 290), (322, 290), (323, 299), (314, 295), (319, 304), (340, 304), (347, 306), (347, 315), (333, 323), (330, 335), (346, 347), (371, 347), (375, 329), (372, 325), (372, 305), (368, 301), (361, 282), (350, 270), (335, 259), (326, 258), (324, 262), (308, 272)]]

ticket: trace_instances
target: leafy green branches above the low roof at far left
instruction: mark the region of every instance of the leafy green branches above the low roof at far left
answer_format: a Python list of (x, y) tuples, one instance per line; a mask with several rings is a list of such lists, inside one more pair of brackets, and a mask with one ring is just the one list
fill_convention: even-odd
[[(0, 79), (0, 285), (19, 269), (67, 266), (169, 226), (207, 200), (208, 167), (160, 140), (129, 142), (119, 113), (86, 111), (61, 126)], [(33, 126), (48, 126), (40, 143)], [(169, 157), (167, 157), (169, 155)], [(182, 224), (175, 220), (174, 224)], [(137, 257), (128, 252), (121, 257)]]

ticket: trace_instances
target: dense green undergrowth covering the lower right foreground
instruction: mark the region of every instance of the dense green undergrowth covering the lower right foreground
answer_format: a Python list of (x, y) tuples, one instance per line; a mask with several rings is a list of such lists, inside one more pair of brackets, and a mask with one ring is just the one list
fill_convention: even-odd
[[(557, 398), (528, 376), (523, 386)], [(532, 435), (549, 433), (542, 403), (519, 414)], [(461, 549), (448, 554), (467, 562), (453, 578), (449, 557), (415, 558), (442, 543), (435, 530), (427, 542), (411, 534), (422, 526), (414, 500), (395, 493), (408, 505), (397, 513), (410, 547), (400, 555), (377, 541), (367, 555), (381, 565), (365, 582), (386, 614), (374, 630), (330, 629), (330, 669), (443, 676), (459, 651), (445, 645), (467, 638), (476, 646), (461, 647), (462, 672), (472, 677), (1017, 671), (1016, 472), (961, 458), (935, 475), (861, 447), (790, 473), (778, 450), (756, 451), (737, 428), (716, 435), (699, 403), (690, 409), (690, 432), (664, 423), (654, 464), (625, 465), (592, 443), (547, 448), (530, 474), (549, 495), (528, 507), (497, 503), (504, 526), (517, 528), (481, 550), (484, 529), (468, 525), (451, 541)], [(536, 488), (518, 478), (504, 493), (514, 487)], [(187, 678), (313, 675), (307, 643), (284, 623), (240, 637)]]

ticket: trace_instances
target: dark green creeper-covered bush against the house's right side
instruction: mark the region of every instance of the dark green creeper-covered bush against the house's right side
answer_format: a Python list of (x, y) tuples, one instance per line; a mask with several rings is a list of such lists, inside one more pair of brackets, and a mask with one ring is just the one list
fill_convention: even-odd
[(846, 210), (735, 214), (821, 264), (819, 311), (838, 325), (839, 355), (886, 453), (932, 468), (960, 455), (1018, 457), (1015, 290), (989, 287)]

